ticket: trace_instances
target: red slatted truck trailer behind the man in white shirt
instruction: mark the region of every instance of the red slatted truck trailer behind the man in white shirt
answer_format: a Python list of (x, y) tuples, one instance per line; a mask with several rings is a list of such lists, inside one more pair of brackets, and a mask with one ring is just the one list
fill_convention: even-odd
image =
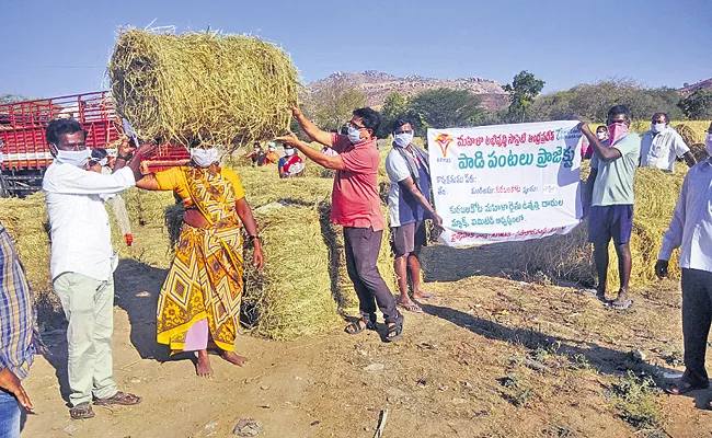
[[(87, 130), (87, 147), (116, 155), (124, 129), (108, 91), (0, 104), (0, 196), (25, 196), (42, 189), (42, 177), (53, 157), (45, 129), (55, 118), (76, 118)], [(185, 164), (183, 146), (161, 145), (142, 163), (143, 172)]]

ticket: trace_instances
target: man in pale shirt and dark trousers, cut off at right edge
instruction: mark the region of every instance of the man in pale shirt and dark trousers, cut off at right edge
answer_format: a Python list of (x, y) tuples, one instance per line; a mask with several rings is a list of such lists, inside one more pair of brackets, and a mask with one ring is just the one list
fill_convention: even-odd
[[(712, 154), (712, 124), (704, 146)], [(680, 247), (682, 269), (685, 373), (667, 392), (684, 394), (710, 385), (704, 355), (712, 318), (712, 159), (700, 162), (685, 176), (655, 264), (659, 278), (667, 276), (668, 261), (676, 247)]]

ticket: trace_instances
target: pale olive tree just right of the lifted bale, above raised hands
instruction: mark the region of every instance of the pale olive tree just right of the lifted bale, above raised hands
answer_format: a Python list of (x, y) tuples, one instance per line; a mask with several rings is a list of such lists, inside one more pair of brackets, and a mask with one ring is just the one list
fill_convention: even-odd
[(345, 80), (334, 80), (306, 99), (305, 113), (322, 129), (338, 130), (365, 104), (366, 94)]

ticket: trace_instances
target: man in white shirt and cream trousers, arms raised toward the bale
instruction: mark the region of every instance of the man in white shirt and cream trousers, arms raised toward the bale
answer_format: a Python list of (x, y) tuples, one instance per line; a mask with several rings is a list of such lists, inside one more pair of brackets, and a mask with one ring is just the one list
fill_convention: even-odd
[(47, 143), (55, 161), (42, 188), (51, 228), (53, 286), (69, 322), (67, 328), (69, 396), (72, 419), (94, 416), (90, 402), (138, 404), (141, 397), (116, 389), (112, 370), (114, 327), (114, 268), (108, 216), (103, 201), (136, 185), (143, 157), (154, 146), (140, 146), (130, 155), (119, 149), (115, 171), (102, 175), (83, 170), (90, 150), (76, 119), (56, 119), (47, 126)]

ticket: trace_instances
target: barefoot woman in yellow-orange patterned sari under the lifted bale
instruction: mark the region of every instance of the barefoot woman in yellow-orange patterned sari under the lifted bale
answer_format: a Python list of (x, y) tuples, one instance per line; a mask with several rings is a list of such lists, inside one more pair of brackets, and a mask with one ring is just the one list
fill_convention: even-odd
[(136, 185), (173, 191), (183, 200), (185, 223), (159, 296), (157, 339), (173, 353), (197, 351), (196, 373), (211, 377), (208, 346), (231, 364), (246, 361), (233, 351), (243, 291), (243, 224), (257, 269), (264, 256), (238, 175), (218, 165), (215, 147), (195, 146), (191, 157), (187, 165), (149, 174)]

